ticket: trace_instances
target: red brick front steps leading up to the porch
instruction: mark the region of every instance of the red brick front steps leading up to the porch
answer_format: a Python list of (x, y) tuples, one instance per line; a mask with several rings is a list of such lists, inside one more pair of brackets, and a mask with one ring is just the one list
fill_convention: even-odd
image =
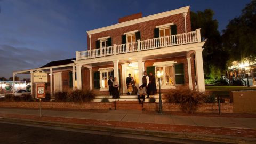
[[(112, 104), (115, 107), (115, 102)], [(121, 110), (142, 110), (143, 105), (137, 101), (116, 101), (116, 109)]]

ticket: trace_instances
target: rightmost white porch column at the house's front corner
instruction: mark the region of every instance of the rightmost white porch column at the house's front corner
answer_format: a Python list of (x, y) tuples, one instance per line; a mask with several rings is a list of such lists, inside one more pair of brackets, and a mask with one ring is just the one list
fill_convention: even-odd
[(204, 91), (204, 67), (203, 67), (203, 55), (201, 50), (195, 51), (196, 59), (196, 79), (197, 79), (197, 88), (199, 91)]

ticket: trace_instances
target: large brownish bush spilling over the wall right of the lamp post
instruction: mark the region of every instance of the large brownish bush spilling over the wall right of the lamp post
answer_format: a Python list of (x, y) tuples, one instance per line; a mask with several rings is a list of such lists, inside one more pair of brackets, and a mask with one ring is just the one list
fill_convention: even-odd
[(171, 89), (163, 94), (165, 102), (180, 103), (182, 111), (186, 113), (194, 113), (197, 106), (203, 102), (205, 92), (197, 92), (190, 89)]

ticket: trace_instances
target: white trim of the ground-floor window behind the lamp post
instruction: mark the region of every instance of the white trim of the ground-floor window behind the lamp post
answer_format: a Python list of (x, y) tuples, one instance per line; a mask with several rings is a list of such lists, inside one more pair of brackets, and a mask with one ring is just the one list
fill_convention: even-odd
[[(155, 66), (155, 74), (156, 74), (156, 68), (158, 67), (163, 67), (163, 82), (164, 82), (164, 85), (161, 85), (161, 89), (176, 89), (175, 87), (175, 71), (174, 71), (174, 64), (177, 63), (175, 61), (164, 61), (164, 62), (154, 62), (153, 63), (153, 66)], [(173, 85), (165, 85), (166, 84), (166, 79), (165, 79), (165, 67), (168, 67), (168, 66), (172, 66), (173, 67), (173, 81), (174, 81), (174, 84)], [(158, 82), (158, 79), (156, 77), (156, 82)], [(157, 83), (156, 83), (157, 85)], [(157, 89), (159, 89), (159, 86), (157, 86)]]

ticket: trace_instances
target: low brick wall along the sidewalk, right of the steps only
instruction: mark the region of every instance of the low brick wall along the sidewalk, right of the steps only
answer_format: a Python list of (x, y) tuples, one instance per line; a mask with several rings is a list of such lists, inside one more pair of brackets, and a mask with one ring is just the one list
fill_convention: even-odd
[[(158, 103), (145, 103), (143, 108), (148, 111), (156, 111), (158, 109)], [(233, 113), (232, 103), (221, 103), (221, 113)], [(163, 103), (163, 111), (181, 111), (181, 105), (176, 103)], [(218, 113), (218, 103), (204, 103), (198, 106), (198, 113)]]

